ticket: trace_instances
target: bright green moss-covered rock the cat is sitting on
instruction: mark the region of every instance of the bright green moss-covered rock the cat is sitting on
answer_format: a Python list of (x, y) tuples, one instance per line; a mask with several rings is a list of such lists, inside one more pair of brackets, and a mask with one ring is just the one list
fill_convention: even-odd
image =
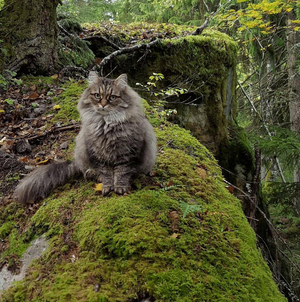
[[(155, 176), (137, 179), (128, 195), (103, 198), (80, 179), (54, 190), (27, 221), (20, 205), (0, 206), (9, 213), (1, 223), (27, 226), (20, 233), (11, 223), (2, 236), (25, 244), (46, 233), (50, 241), (2, 301), (286, 301), (212, 154), (150, 106), (145, 112), (158, 137)], [(202, 210), (183, 218), (181, 201)], [(18, 246), (7, 242), (7, 251)]]

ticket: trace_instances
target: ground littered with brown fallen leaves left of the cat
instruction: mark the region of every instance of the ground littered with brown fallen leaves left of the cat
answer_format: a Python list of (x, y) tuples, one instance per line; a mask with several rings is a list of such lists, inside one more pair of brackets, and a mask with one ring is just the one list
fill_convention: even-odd
[[(68, 81), (24, 77), (21, 85), (0, 87), (0, 198), (12, 198), (20, 175), (56, 158), (65, 159), (69, 131), (79, 131), (79, 121), (67, 125), (51, 122), (61, 88)], [(2, 90), (2, 91), (1, 91)], [(53, 102), (53, 99), (56, 101)]]

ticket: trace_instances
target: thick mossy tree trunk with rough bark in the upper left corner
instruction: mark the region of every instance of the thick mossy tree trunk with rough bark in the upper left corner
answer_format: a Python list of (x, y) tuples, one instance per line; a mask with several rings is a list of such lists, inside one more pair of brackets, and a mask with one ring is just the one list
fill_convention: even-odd
[(53, 74), (59, 0), (6, 0), (0, 11), (0, 73)]

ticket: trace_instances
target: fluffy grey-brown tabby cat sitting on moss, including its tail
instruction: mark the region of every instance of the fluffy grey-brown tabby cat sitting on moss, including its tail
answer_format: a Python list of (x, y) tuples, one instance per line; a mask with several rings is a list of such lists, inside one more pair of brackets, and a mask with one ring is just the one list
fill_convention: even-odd
[(157, 144), (152, 125), (144, 116), (140, 96), (127, 85), (126, 74), (111, 80), (89, 74), (88, 88), (78, 102), (81, 130), (72, 161), (37, 168), (16, 187), (21, 203), (45, 198), (68, 178), (94, 175), (102, 195), (123, 195), (132, 177), (148, 174), (155, 165)]

